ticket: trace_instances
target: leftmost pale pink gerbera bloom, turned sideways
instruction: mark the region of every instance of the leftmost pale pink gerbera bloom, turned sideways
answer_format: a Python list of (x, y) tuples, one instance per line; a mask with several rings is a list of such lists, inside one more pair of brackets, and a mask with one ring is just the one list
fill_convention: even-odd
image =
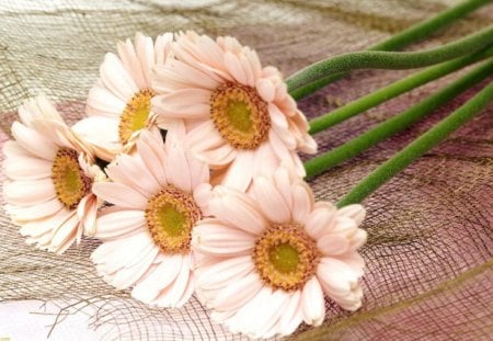
[(28, 243), (62, 253), (94, 232), (100, 202), (91, 186), (106, 177), (46, 98), (26, 101), (19, 115), (15, 140), (3, 146), (4, 208)]

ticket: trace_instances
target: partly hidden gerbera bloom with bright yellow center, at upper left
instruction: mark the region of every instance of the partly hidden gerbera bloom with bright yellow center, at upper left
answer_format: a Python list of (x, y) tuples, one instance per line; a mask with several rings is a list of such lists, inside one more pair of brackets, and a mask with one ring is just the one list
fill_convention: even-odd
[(118, 55), (108, 53), (100, 67), (100, 79), (90, 90), (85, 113), (89, 118), (74, 125), (76, 132), (94, 146), (106, 161), (128, 152), (139, 133), (153, 126), (150, 75), (163, 65), (170, 52), (171, 33), (152, 38), (137, 33), (117, 44)]

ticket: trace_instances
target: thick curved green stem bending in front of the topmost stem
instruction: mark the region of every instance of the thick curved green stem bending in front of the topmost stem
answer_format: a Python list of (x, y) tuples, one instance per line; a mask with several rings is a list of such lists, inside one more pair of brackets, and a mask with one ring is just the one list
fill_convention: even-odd
[(422, 52), (356, 52), (314, 62), (286, 80), (293, 91), (328, 76), (355, 69), (412, 69), (469, 55), (493, 44), (493, 25), (461, 39)]

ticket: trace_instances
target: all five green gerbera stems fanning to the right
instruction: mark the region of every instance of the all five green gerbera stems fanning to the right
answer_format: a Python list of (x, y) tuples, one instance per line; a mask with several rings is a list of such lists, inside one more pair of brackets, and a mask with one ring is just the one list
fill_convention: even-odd
[[(460, 93), (491, 78), (493, 76), (493, 25), (432, 49), (405, 53), (389, 50), (400, 49), (439, 29), (450, 25), (475, 9), (492, 2), (493, 0), (467, 0), (455, 8), (446, 10), (432, 19), (421, 22), (370, 47), (370, 50), (344, 54), (320, 60), (289, 77), (287, 84), (291, 95), (296, 99), (301, 99), (318, 91), (328, 83), (344, 77), (351, 70), (413, 69), (431, 66), (362, 96), (331, 113), (314, 118), (310, 122), (310, 134), (317, 134), (402, 93), (411, 91), (414, 88), (482, 61), (472, 71), (469, 71), (434, 94), (423, 99), (401, 114), (382, 122), (342, 146), (307, 161), (305, 163), (307, 178), (319, 175), (390, 136), (406, 129)], [(342, 207), (365, 200), (415, 159), (423, 156), (479, 114), (492, 101), (493, 82), (479, 91), (459, 110), (451, 113), (448, 117), (379, 166), (341, 198), (337, 206)]]

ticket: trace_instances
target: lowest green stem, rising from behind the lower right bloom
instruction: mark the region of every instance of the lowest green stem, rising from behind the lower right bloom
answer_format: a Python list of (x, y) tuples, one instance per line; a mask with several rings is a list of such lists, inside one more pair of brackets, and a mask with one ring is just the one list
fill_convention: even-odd
[[(493, 62), (490, 62), (493, 64)], [(490, 71), (491, 75), (491, 71)], [(420, 136), (408, 147), (395, 154), (391, 159), (378, 167), (349, 193), (347, 193), (337, 206), (343, 207), (353, 203), (360, 203), (365, 197), (376, 191), (379, 186), (392, 179), (395, 174), (423, 156), (429, 149), (443, 141), (447, 136), (461, 127), (479, 114), (493, 101), (493, 82), (478, 92), (471, 100), (436, 124), (428, 132)]]

